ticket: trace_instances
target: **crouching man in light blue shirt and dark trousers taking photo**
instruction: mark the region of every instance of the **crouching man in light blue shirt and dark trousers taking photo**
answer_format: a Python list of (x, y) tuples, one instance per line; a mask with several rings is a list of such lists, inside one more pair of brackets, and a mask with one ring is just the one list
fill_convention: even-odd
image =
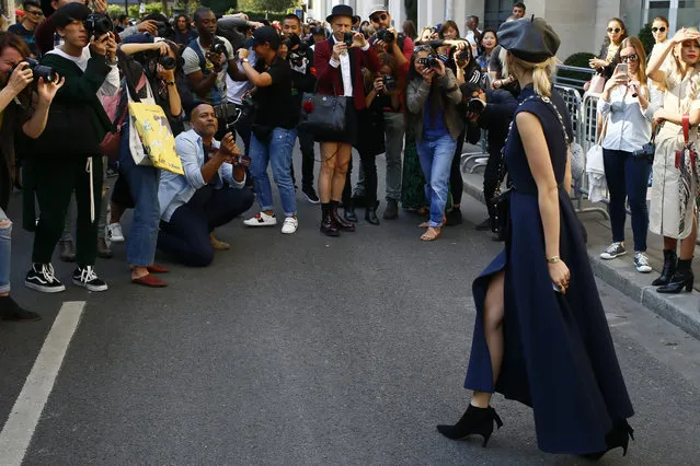
[(206, 267), (214, 260), (211, 232), (250, 209), (253, 193), (243, 189), (248, 161), (231, 133), (214, 139), (219, 129), (214, 107), (197, 105), (190, 125), (175, 138), (185, 174), (161, 171), (158, 248), (186, 266)]

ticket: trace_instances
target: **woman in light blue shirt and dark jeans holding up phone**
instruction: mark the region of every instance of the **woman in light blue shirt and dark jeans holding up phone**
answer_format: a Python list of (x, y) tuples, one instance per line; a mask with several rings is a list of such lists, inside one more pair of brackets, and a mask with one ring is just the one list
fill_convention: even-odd
[(646, 85), (646, 56), (640, 39), (628, 37), (622, 40), (619, 57), (620, 63), (606, 82), (598, 101), (598, 115), (607, 118), (603, 158), (610, 191), (612, 226), (612, 244), (600, 254), (600, 258), (610, 260), (626, 254), (626, 203), (629, 202), (634, 234), (634, 267), (639, 272), (649, 273), (652, 268), (645, 255), (649, 230), (646, 189), (651, 165), (647, 158), (634, 156), (633, 153), (651, 139), (656, 105), (651, 103)]

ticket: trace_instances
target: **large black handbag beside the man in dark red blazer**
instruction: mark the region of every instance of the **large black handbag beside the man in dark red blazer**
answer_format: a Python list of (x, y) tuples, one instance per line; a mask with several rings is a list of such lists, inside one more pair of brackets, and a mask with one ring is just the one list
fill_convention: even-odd
[(299, 129), (314, 137), (345, 131), (347, 97), (305, 92), (301, 97)]

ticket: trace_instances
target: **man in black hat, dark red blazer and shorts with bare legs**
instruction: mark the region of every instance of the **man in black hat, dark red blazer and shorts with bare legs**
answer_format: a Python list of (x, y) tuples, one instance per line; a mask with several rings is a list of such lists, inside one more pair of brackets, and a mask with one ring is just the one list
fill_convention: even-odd
[[(326, 18), (333, 35), (329, 40), (317, 44), (313, 61), (318, 78), (319, 94), (345, 96), (347, 112), (345, 130), (337, 135), (317, 137), (321, 142), (323, 165), (319, 174), (319, 197), (321, 198), (321, 232), (337, 236), (340, 231), (355, 231), (355, 225), (337, 213), (337, 203), (345, 187), (345, 175), (357, 140), (357, 110), (365, 108), (365, 83), (362, 69), (372, 73), (379, 69), (377, 53), (369, 46), (362, 33), (353, 32), (353, 9), (346, 4), (333, 7)], [(348, 47), (345, 33), (351, 33), (353, 43)]]

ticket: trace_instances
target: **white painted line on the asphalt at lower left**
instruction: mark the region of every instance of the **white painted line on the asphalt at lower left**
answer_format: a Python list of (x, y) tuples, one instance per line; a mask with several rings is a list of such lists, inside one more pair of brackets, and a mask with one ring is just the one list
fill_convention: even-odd
[(22, 464), (84, 307), (84, 301), (66, 302), (58, 312), (54, 326), (0, 432), (1, 466)]

